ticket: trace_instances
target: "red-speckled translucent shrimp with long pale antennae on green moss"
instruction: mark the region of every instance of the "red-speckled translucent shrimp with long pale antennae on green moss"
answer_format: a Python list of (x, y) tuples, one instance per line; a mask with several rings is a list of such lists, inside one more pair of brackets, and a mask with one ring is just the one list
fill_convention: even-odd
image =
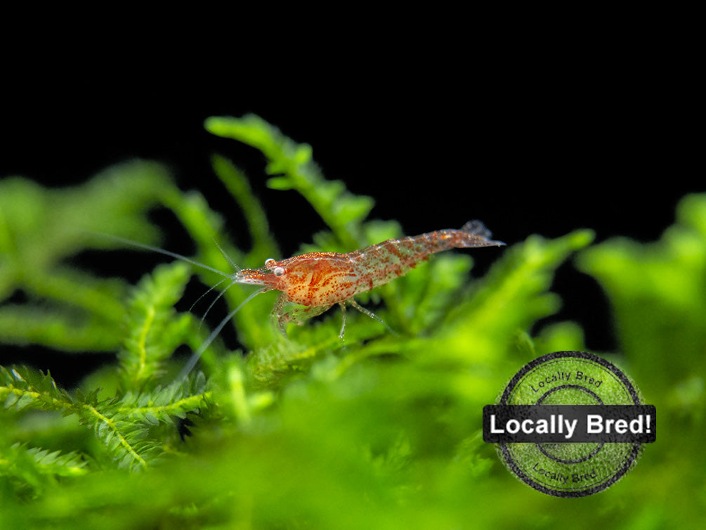
[[(191, 264), (219, 273), (230, 280), (229, 285), (241, 283), (261, 287), (260, 290), (252, 293), (241, 305), (232, 310), (213, 330), (212, 334), (198, 348), (198, 351), (194, 353), (189, 365), (185, 367), (185, 371), (189, 372), (201, 353), (210, 346), (225, 324), (246, 302), (260, 293), (269, 290), (281, 292), (273, 307), (272, 316), (277, 320), (280, 331), (285, 336), (287, 336), (285, 328), (289, 322), (301, 324), (304, 320), (315, 317), (338, 304), (343, 312), (343, 324), (339, 334), (342, 338), (346, 326), (345, 309), (347, 303), (384, 324), (375, 314), (358, 305), (353, 298), (355, 295), (405, 275), (414, 269), (419, 261), (429, 259), (429, 255), (435, 252), (451, 248), (505, 245), (501, 241), (489, 239), (490, 236), (491, 232), (481, 221), (472, 220), (463, 225), (460, 230), (436, 230), (436, 232), (428, 232), (414, 237), (387, 240), (345, 254), (309, 252), (280, 261), (270, 258), (260, 269), (241, 269), (232, 274), (218, 271), (164, 249), (130, 243), (167, 254), (167, 256), (183, 259)], [(285, 305), (290, 302), (304, 307), (285, 310)]]

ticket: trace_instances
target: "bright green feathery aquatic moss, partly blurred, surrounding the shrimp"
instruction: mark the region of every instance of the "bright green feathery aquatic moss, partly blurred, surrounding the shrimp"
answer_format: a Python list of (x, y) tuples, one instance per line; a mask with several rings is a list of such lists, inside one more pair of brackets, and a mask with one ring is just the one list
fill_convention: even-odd
[[(372, 199), (326, 180), (310, 146), (262, 119), (214, 117), (206, 127), (264, 153), (270, 187), (299, 192), (327, 225), (314, 236), (320, 248), (400, 235), (397, 223), (366, 219)], [(78, 389), (1, 367), (0, 527), (650, 529), (703, 520), (706, 196), (686, 197), (652, 245), (590, 247), (589, 230), (532, 235), (477, 251), (498, 260), (470, 281), (467, 252), (438, 254), (378, 290), (376, 312), (397, 335), (349, 312), (342, 343), (340, 314), (330, 312), (290, 326), (285, 339), (268, 322), (273, 298), (258, 296), (234, 319), (246, 351), (217, 341), (201, 372), (174, 382), (175, 348), (195, 350), (206, 334), (174, 302), (192, 272), (212, 285), (222, 277), (177, 262), (131, 286), (67, 259), (124, 245), (93, 232), (155, 244), (145, 213), (157, 205), (196, 242), (193, 259), (215, 269), (230, 264), (214, 240), (238, 263), (279, 257), (247, 179), (220, 156), (213, 167), (245, 213), (250, 249), (220, 240), (222, 220), (203, 196), (181, 192), (154, 163), (125, 163), (76, 189), (0, 182), (0, 341), (116, 358)], [(614, 310), (620, 348), (604, 355), (657, 405), (659, 433), (609, 490), (557, 499), (510, 476), (479, 429), (482, 406), (527, 360), (584, 348), (573, 322), (531, 334), (558, 309), (554, 271), (576, 252)], [(11, 302), (18, 291), (26, 301)], [(237, 307), (248, 294), (225, 296)]]

